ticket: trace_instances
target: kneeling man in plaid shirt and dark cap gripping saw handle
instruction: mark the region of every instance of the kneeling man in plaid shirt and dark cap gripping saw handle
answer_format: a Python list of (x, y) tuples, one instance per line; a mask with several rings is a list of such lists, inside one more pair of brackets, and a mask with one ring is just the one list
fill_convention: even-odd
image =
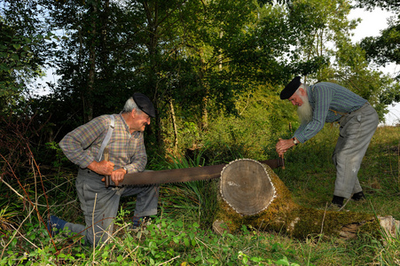
[[(116, 185), (127, 173), (145, 170), (144, 130), (155, 117), (154, 106), (142, 93), (135, 93), (125, 103), (122, 113), (102, 115), (68, 133), (59, 143), (67, 158), (79, 166), (76, 190), (86, 225), (67, 223), (56, 216), (49, 219), (51, 234), (67, 227), (83, 235), (91, 244), (106, 241), (113, 232), (121, 197), (137, 195), (133, 225), (157, 214), (159, 187), (108, 187), (104, 176)], [(108, 131), (111, 129), (111, 136)], [(108, 133), (108, 136), (107, 136)], [(109, 160), (105, 160), (105, 149)]]

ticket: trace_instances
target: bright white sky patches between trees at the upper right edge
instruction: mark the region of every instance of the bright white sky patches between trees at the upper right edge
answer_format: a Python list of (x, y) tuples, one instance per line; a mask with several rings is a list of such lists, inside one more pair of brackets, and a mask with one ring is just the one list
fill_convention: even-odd
[[(353, 32), (352, 41), (354, 43), (361, 41), (361, 39), (366, 36), (378, 36), (380, 35), (380, 30), (388, 27), (388, 18), (392, 16), (393, 13), (385, 12), (380, 9), (375, 9), (373, 12), (365, 11), (364, 9), (355, 9), (350, 12), (349, 19), (354, 20), (361, 18), (361, 23), (357, 26), (356, 30)], [(396, 64), (389, 64), (386, 67), (381, 67), (380, 71), (386, 74), (391, 74), (394, 76), (396, 71), (400, 71), (400, 66)], [(388, 111), (385, 115), (386, 122), (385, 125), (396, 125), (400, 123), (400, 104), (395, 106), (388, 106)]]

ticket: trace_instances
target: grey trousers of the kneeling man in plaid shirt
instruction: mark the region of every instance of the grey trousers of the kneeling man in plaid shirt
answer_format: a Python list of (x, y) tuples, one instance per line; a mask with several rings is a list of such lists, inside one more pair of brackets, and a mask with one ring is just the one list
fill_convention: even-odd
[(81, 234), (90, 244), (96, 245), (112, 235), (121, 197), (137, 195), (135, 216), (156, 215), (159, 197), (159, 186), (106, 188), (101, 181), (103, 177), (89, 169), (79, 169), (75, 184), (86, 226), (65, 225), (72, 233)]

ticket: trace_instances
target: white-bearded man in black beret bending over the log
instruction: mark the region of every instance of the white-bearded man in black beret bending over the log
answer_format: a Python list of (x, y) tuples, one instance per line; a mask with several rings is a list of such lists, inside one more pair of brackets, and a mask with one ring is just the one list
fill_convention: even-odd
[(336, 180), (332, 204), (342, 207), (344, 199), (365, 199), (357, 173), (379, 123), (373, 106), (338, 84), (319, 82), (307, 86), (300, 81), (300, 76), (286, 85), (280, 98), (298, 106), (301, 125), (292, 138), (278, 140), (276, 150), (279, 156), (317, 135), (325, 122), (338, 121), (340, 134), (333, 152)]

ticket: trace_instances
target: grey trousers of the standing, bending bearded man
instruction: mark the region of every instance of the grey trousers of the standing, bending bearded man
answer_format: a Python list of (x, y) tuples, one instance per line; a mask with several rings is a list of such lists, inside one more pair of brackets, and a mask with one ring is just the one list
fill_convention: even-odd
[(333, 195), (349, 199), (353, 193), (363, 191), (357, 174), (379, 118), (373, 106), (366, 103), (357, 111), (343, 116), (339, 123), (340, 134), (333, 152), (333, 164), (336, 166)]

